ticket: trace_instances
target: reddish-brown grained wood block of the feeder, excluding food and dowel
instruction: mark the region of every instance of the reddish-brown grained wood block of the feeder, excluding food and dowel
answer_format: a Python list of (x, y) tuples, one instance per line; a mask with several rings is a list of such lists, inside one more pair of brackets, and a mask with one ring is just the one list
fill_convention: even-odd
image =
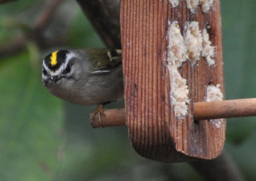
[[(191, 13), (186, 1), (176, 8), (167, 0), (122, 0), (120, 6), (125, 110), (132, 146), (143, 157), (166, 162), (218, 156), (225, 141), (225, 120), (220, 128), (208, 121), (195, 122), (193, 103), (205, 101), (209, 83), (220, 84), (223, 91), (220, 1), (214, 1), (209, 13), (202, 13), (201, 8)], [(210, 24), (210, 38), (216, 47), (215, 66), (209, 67), (202, 57), (197, 66), (186, 61), (179, 69), (189, 87), (189, 110), (184, 119), (176, 119), (170, 105), (168, 20), (179, 22), (182, 35), (188, 21), (198, 21), (200, 30)]]

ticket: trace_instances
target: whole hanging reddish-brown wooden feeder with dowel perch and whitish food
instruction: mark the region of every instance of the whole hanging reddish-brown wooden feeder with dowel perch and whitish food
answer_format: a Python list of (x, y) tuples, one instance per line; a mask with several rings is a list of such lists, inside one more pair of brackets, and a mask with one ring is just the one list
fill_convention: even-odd
[[(208, 4), (207, 4), (208, 3)], [(214, 159), (227, 117), (255, 115), (255, 99), (224, 99), (220, 0), (121, 0), (125, 109), (93, 127), (124, 126), (148, 159)], [(126, 119), (125, 119), (126, 118)]]

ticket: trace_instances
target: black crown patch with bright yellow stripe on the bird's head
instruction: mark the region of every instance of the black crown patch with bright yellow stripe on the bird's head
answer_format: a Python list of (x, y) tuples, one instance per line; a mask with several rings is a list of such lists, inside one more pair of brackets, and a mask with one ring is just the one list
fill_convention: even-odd
[(56, 69), (60, 68), (63, 62), (65, 62), (67, 54), (67, 50), (59, 50), (57, 52), (52, 52), (51, 54), (45, 57), (44, 62), (49, 69), (55, 71)]

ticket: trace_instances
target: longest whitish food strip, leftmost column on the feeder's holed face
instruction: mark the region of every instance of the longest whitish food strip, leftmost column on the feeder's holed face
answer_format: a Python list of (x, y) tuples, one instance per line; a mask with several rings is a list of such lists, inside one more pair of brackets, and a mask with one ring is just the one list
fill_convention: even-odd
[(174, 106), (175, 116), (184, 117), (188, 113), (189, 91), (186, 79), (182, 78), (178, 68), (188, 59), (188, 53), (178, 22), (174, 21), (169, 25), (167, 66), (170, 74), (170, 99), (171, 105)]

